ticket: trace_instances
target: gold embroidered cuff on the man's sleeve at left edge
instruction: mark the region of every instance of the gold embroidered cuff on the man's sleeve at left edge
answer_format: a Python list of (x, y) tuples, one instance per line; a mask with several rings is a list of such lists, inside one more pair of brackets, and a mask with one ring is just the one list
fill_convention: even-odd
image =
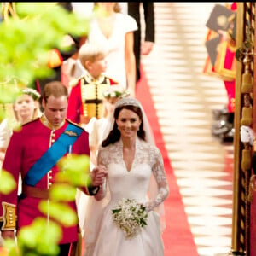
[(3, 206), (3, 226), (2, 230), (16, 230), (16, 206), (7, 202), (2, 202)]

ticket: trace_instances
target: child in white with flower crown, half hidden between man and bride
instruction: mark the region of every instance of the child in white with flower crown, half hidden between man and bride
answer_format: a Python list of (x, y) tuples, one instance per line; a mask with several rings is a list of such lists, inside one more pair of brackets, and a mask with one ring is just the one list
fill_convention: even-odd
[[(113, 84), (103, 92), (103, 115), (101, 119), (92, 118), (85, 130), (89, 133), (90, 146), (90, 170), (96, 166), (96, 156), (98, 148), (102, 145), (102, 141), (108, 136), (109, 131), (113, 126), (113, 108), (114, 104), (120, 98), (128, 96), (125, 88), (119, 84)], [(108, 194), (109, 195), (109, 194)], [(79, 224), (84, 236), (85, 246), (89, 251), (90, 241), (87, 241), (87, 234), (91, 230), (94, 232), (96, 224), (96, 213), (101, 218), (102, 207), (108, 202), (108, 195), (102, 201), (96, 201), (93, 196), (84, 195), (80, 190), (77, 192), (77, 206), (79, 212)], [(84, 234), (85, 232), (85, 234)], [(89, 237), (89, 236), (88, 236)]]

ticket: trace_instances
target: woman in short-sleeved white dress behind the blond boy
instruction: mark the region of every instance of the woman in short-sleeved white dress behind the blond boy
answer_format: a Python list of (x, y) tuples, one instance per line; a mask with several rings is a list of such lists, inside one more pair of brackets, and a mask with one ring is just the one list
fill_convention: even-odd
[(96, 17), (90, 21), (87, 41), (106, 45), (106, 74), (127, 87), (131, 96), (135, 96), (136, 63), (133, 32), (137, 30), (137, 22), (130, 15), (121, 14), (117, 2), (97, 2), (95, 8), (102, 11), (96, 13)]

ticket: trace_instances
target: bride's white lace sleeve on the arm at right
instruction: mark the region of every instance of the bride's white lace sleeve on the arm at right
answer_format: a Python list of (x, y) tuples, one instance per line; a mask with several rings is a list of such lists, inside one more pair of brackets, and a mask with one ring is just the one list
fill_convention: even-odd
[(166, 179), (164, 163), (158, 148), (152, 149), (151, 159), (153, 161), (152, 172), (157, 183), (158, 193), (154, 199), (146, 203), (146, 210), (148, 212), (154, 210), (155, 207), (158, 207), (160, 203), (162, 203), (169, 195), (169, 187)]

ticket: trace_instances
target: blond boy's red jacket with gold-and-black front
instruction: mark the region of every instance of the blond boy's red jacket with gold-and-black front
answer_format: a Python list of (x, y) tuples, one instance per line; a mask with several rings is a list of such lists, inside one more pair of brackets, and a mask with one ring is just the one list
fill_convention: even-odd
[(85, 74), (70, 92), (67, 118), (78, 124), (87, 124), (92, 117), (102, 118), (103, 92), (113, 84), (117, 83), (104, 75), (93, 79), (89, 73)]

